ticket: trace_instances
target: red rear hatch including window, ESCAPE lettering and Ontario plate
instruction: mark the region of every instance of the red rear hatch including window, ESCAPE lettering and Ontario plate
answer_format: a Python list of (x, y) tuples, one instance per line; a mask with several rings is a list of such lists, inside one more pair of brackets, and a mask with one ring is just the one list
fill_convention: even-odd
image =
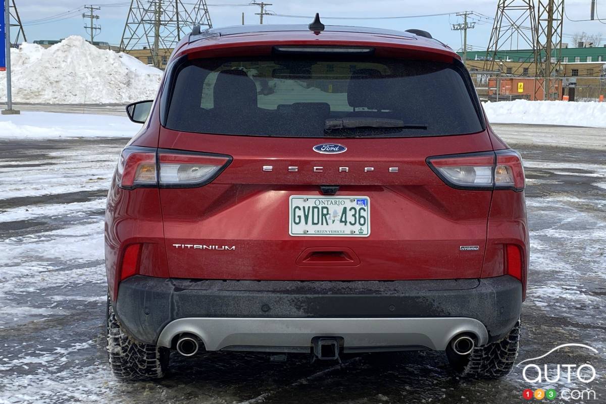
[(160, 155), (208, 175), (160, 189), (171, 277), (480, 276), (491, 192), (427, 163), (492, 149), (459, 62), (311, 50), (174, 69)]

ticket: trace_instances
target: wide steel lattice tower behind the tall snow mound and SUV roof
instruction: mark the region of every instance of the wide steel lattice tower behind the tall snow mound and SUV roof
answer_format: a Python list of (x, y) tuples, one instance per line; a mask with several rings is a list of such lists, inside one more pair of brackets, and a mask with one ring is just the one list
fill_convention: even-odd
[(195, 25), (213, 26), (206, 0), (131, 0), (120, 51), (147, 49), (152, 64), (161, 67), (161, 59), (167, 59)]

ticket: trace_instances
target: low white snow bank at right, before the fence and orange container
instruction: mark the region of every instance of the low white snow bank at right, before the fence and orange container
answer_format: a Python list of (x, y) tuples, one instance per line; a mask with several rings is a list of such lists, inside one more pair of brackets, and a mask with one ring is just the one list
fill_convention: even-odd
[(606, 127), (606, 102), (501, 101), (487, 102), (491, 123)]

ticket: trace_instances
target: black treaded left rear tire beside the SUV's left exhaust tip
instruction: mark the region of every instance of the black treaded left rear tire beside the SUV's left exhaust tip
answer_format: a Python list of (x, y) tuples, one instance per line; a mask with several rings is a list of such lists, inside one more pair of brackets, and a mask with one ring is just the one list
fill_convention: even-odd
[(164, 377), (170, 350), (137, 342), (121, 327), (107, 298), (107, 353), (118, 379), (149, 380)]

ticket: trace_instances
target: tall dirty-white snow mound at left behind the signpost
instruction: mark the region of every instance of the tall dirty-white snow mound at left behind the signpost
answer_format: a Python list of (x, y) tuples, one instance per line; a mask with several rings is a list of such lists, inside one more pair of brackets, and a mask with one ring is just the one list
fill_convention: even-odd
[[(136, 57), (70, 36), (44, 49), (22, 44), (11, 50), (13, 102), (129, 103), (153, 99), (162, 71)], [(0, 100), (6, 100), (6, 73), (0, 72)]]

